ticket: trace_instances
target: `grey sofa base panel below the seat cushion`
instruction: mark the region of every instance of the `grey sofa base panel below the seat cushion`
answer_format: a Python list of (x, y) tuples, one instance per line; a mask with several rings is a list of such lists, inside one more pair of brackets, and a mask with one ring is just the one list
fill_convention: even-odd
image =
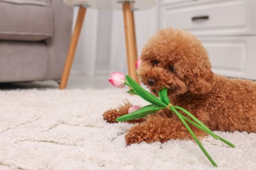
[(44, 80), (48, 50), (44, 42), (0, 41), (0, 81)]

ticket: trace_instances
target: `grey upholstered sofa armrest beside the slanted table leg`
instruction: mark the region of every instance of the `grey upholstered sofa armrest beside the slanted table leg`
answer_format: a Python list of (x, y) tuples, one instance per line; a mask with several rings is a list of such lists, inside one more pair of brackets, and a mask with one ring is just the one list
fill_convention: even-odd
[(60, 79), (68, 46), (72, 35), (74, 8), (64, 5), (62, 0), (51, 1), (54, 13), (53, 37), (47, 40), (49, 50), (48, 73), (45, 79)]

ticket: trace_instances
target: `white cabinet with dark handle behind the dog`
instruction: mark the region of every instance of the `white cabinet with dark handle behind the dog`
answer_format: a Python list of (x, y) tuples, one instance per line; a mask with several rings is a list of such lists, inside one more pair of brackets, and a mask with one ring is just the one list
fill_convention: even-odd
[(188, 29), (215, 73), (240, 78), (256, 79), (255, 18), (255, 0), (162, 0), (160, 7), (160, 27)]

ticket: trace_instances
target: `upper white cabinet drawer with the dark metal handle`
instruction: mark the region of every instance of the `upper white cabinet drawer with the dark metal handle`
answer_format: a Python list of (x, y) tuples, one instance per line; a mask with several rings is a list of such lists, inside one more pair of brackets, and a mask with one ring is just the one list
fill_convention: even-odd
[(188, 29), (196, 35), (245, 35), (255, 33), (255, 0), (198, 1), (163, 6), (161, 27)]

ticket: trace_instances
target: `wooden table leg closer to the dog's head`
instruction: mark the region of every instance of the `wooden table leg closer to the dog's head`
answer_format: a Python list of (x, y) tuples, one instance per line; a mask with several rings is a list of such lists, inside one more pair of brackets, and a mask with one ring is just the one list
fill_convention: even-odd
[(135, 20), (133, 11), (131, 10), (131, 3), (128, 1), (123, 3), (123, 21), (125, 25), (128, 74), (131, 76), (131, 78), (133, 78), (133, 80), (139, 83), (139, 77), (137, 76), (135, 67), (135, 62), (138, 59)]

